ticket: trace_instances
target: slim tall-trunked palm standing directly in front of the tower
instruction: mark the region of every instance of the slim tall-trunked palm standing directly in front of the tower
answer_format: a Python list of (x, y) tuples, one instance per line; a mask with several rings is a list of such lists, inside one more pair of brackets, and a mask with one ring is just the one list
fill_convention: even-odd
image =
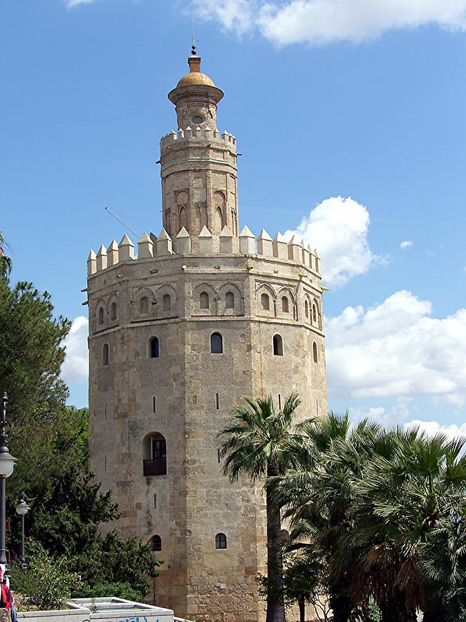
[(285, 622), (283, 602), (283, 560), (280, 509), (275, 502), (274, 478), (297, 466), (303, 437), (296, 431), (296, 410), (301, 403), (297, 393), (286, 398), (283, 408), (275, 409), (271, 395), (251, 399), (248, 406), (234, 408), (229, 426), (218, 436), (220, 455), (225, 458), (223, 472), (230, 481), (241, 474), (252, 481), (272, 478), (265, 485), (267, 509), (267, 616), (266, 622)]

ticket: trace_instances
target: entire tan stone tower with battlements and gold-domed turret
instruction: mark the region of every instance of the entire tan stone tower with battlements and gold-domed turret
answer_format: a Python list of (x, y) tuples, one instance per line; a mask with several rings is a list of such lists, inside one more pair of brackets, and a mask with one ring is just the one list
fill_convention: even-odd
[(261, 487), (221, 473), (217, 433), (244, 395), (292, 390), (326, 412), (317, 251), (265, 229), (238, 234), (236, 138), (223, 93), (189, 58), (160, 142), (162, 231), (88, 258), (90, 468), (122, 536), (164, 564), (155, 601), (199, 621), (262, 621)]

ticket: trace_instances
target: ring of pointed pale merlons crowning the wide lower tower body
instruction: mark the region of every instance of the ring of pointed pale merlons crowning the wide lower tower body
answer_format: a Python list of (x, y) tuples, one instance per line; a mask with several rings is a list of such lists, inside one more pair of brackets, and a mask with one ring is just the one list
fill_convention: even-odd
[[(239, 234), (239, 253), (234, 251), (235, 241), (237, 244), (238, 238), (227, 227), (223, 227), (220, 236), (213, 236), (207, 227), (203, 227), (198, 235), (197, 254), (240, 254), (277, 258), (295, 261), (320, 274), (320, 258), (317, 249), (312, 249), (310, 245), (306, 246), (304, 241), (299, 241), (297, 236), (292, 236), (287, 242), (281, 233), (277, 233), (272, 240), (265, 229), (262, 229), (256, 238), (248, 227), (243, 227)], [(109, 247), (102, 244), (97, 254), (91, 249), (87, 260), (88, 276), (124, 261), (194, 254), (191, 236), (185, 227), (180, 230), (174, 241), (163, 228), (158, 237), (152, 234), (149, 237), (147, 233), (144, 233), (138, 240), (137, 257), (134, 254), (134, 248), (131, 238), (124, 234), (119, 244), (115, 240), (111, 241)]]

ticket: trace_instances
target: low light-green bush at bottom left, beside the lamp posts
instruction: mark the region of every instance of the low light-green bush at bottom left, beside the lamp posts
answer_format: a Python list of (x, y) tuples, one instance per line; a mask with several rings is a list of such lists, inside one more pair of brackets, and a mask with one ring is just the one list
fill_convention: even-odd
[(39, 543), (31, 543), (28, 568), (12, 568), (11, 586), (28, 597), (28, 605), (38, 610), (62, 609), (71, 598), (72, 585), (77, 580), (66, 563), (65, 557), (53, 558)]

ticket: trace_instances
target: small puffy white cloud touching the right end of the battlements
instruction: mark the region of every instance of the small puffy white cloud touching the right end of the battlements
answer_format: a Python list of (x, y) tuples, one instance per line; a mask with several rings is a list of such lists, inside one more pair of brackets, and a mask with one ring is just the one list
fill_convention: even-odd
[(296, 234), (312, 248), (317, 246), (325, 282), (344, 285), (357, 274), (364, 274), (376, 257), (367, 241), (369, 211), (352, 198), (328, 198), (301, 220), (288, 239)]

